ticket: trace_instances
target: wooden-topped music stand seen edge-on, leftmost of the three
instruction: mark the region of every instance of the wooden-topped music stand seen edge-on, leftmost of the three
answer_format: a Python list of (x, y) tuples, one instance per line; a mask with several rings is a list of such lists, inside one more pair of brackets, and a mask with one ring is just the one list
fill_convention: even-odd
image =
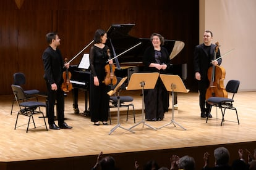
[[(122, 86), (122, 84), (124, 83), (124, 81), (126, 81), (126, 79), (127, 79), (127, 76), (126, 76), (125, 78), (122, 78), (121, 81), (119, 81), (119, 83), (116, 85), (116, 87), (114, 88), (114, 90), (111, 90), (111, 91), (108, 92), (108, 95), (109, 95), (109, 96), (111, 96), (111, 95), (113, 95), (113, 94), (115, 94), (115, 93), (117, 92), (117, 124), (116, 124), (116, 126), (114, 126), (114, 127), (111, 129), (111, 131), (109, 132), (109, 135), (110, 135), (112, 132), (114, 132), (114, 131), (117, 129), (117, 127), (120, 127), (120, 128), (122, 128), (122, 129), (124, 129), (124, 130), (126, 130), (126, 131), (129, 131), (129, 132), (134, 133), (133, 131), (130, 131), (130, 129), (126, 129), (126, 128), (122, 127), (122, 126), (121, 126), (121, 123), (119, 123), (119, 116), (120, 116), (120, 110), (119, 110), (119, 108), (120, 108), (119, 91), (121, 91), (121, 86)], [(110, 113), (109, 113), (109, 114), (110, 114)]]

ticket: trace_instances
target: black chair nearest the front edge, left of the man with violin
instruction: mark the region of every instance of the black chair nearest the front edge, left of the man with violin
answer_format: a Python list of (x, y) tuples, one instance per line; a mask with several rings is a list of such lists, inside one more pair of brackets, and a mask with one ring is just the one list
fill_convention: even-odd
[[(17, 127), (17, 121), (18, 121), (19, 115), (28, 116), (29, 119), (28, 119), (28, 124), (27, 124), (27, 131), (26, 131), (26, 132), (28, 132), (30, 119), (32, 119), (34, 127), (36, 128), (33, 115), (40, 113), (42, 115), (43, 120), (45, 121), (45, 115), (43, 114), (42, 111), (40, 111), (40, 107), (46, 107), (46, 104), (43, 102), (37, 102), (37, 101), (20, 102), (22, 100), (27, 99), (25, 92), (23, 91), (22, 87), (19, 85), (12, 84), (11, 87), (12, 87), (12, 92), (14, 93), (14, 96), (15, 96), (15, 101), (17, 102), (17, 104), (19, 105), (19, 108), (20, 108), (20, 110), (18, 111), (18, 114), (17, 114), (14, 129), (16, 129), (16, 127)], [(36, 109), (39, 109), (39, 110), (36, 110)], [(25, 125), (25, 124), (23, 124), (23, 125)], [(46, 131), (48, 131), (48, 128), (46, 126), (46, 121), (45, 121), (45, 127), (46, 127)]]

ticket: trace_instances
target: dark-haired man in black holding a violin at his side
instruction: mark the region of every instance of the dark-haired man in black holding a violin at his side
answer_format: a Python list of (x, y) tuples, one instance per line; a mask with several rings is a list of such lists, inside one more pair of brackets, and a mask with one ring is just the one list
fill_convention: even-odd
[[(61, 51), (58, 49), (61, 39), (57, 33), (46, 34), (49, 46), (43, 52), (43, 64), (45, 68), (45, 81), (48, 88), (48, 123), (54, 130), (72, 129), (64, 122), (64, 92), (61, 89), (63, 83), (62, 73), (69, 68), (69, 63), (64, 63)], [(56, 103), (58, 125), (54, 123), (54, 105)]]

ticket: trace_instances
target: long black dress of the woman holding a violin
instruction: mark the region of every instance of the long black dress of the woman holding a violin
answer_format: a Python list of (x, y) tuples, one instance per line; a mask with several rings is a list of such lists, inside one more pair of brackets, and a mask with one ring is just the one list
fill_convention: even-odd
[[(105, 65), (108, 61), (108, 46), (103, 49), (93, 46), (90, 49), (90, 69), (92, 70), (90, 78), (90, 115), (91, 121), (108, 121), (109, 95), (110, 87), (103, 83), (105, 79)], [(100, 86), (95, 86), (93, 77), (97, 76)]]

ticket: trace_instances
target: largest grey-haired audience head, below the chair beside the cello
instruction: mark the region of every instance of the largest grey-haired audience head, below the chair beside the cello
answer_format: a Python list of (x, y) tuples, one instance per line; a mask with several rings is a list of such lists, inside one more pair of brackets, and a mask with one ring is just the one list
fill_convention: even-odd
[(214, 150), (215, 165), (225, 165), (229, 161), (229, 152), (227, 148), (219, 147)]

